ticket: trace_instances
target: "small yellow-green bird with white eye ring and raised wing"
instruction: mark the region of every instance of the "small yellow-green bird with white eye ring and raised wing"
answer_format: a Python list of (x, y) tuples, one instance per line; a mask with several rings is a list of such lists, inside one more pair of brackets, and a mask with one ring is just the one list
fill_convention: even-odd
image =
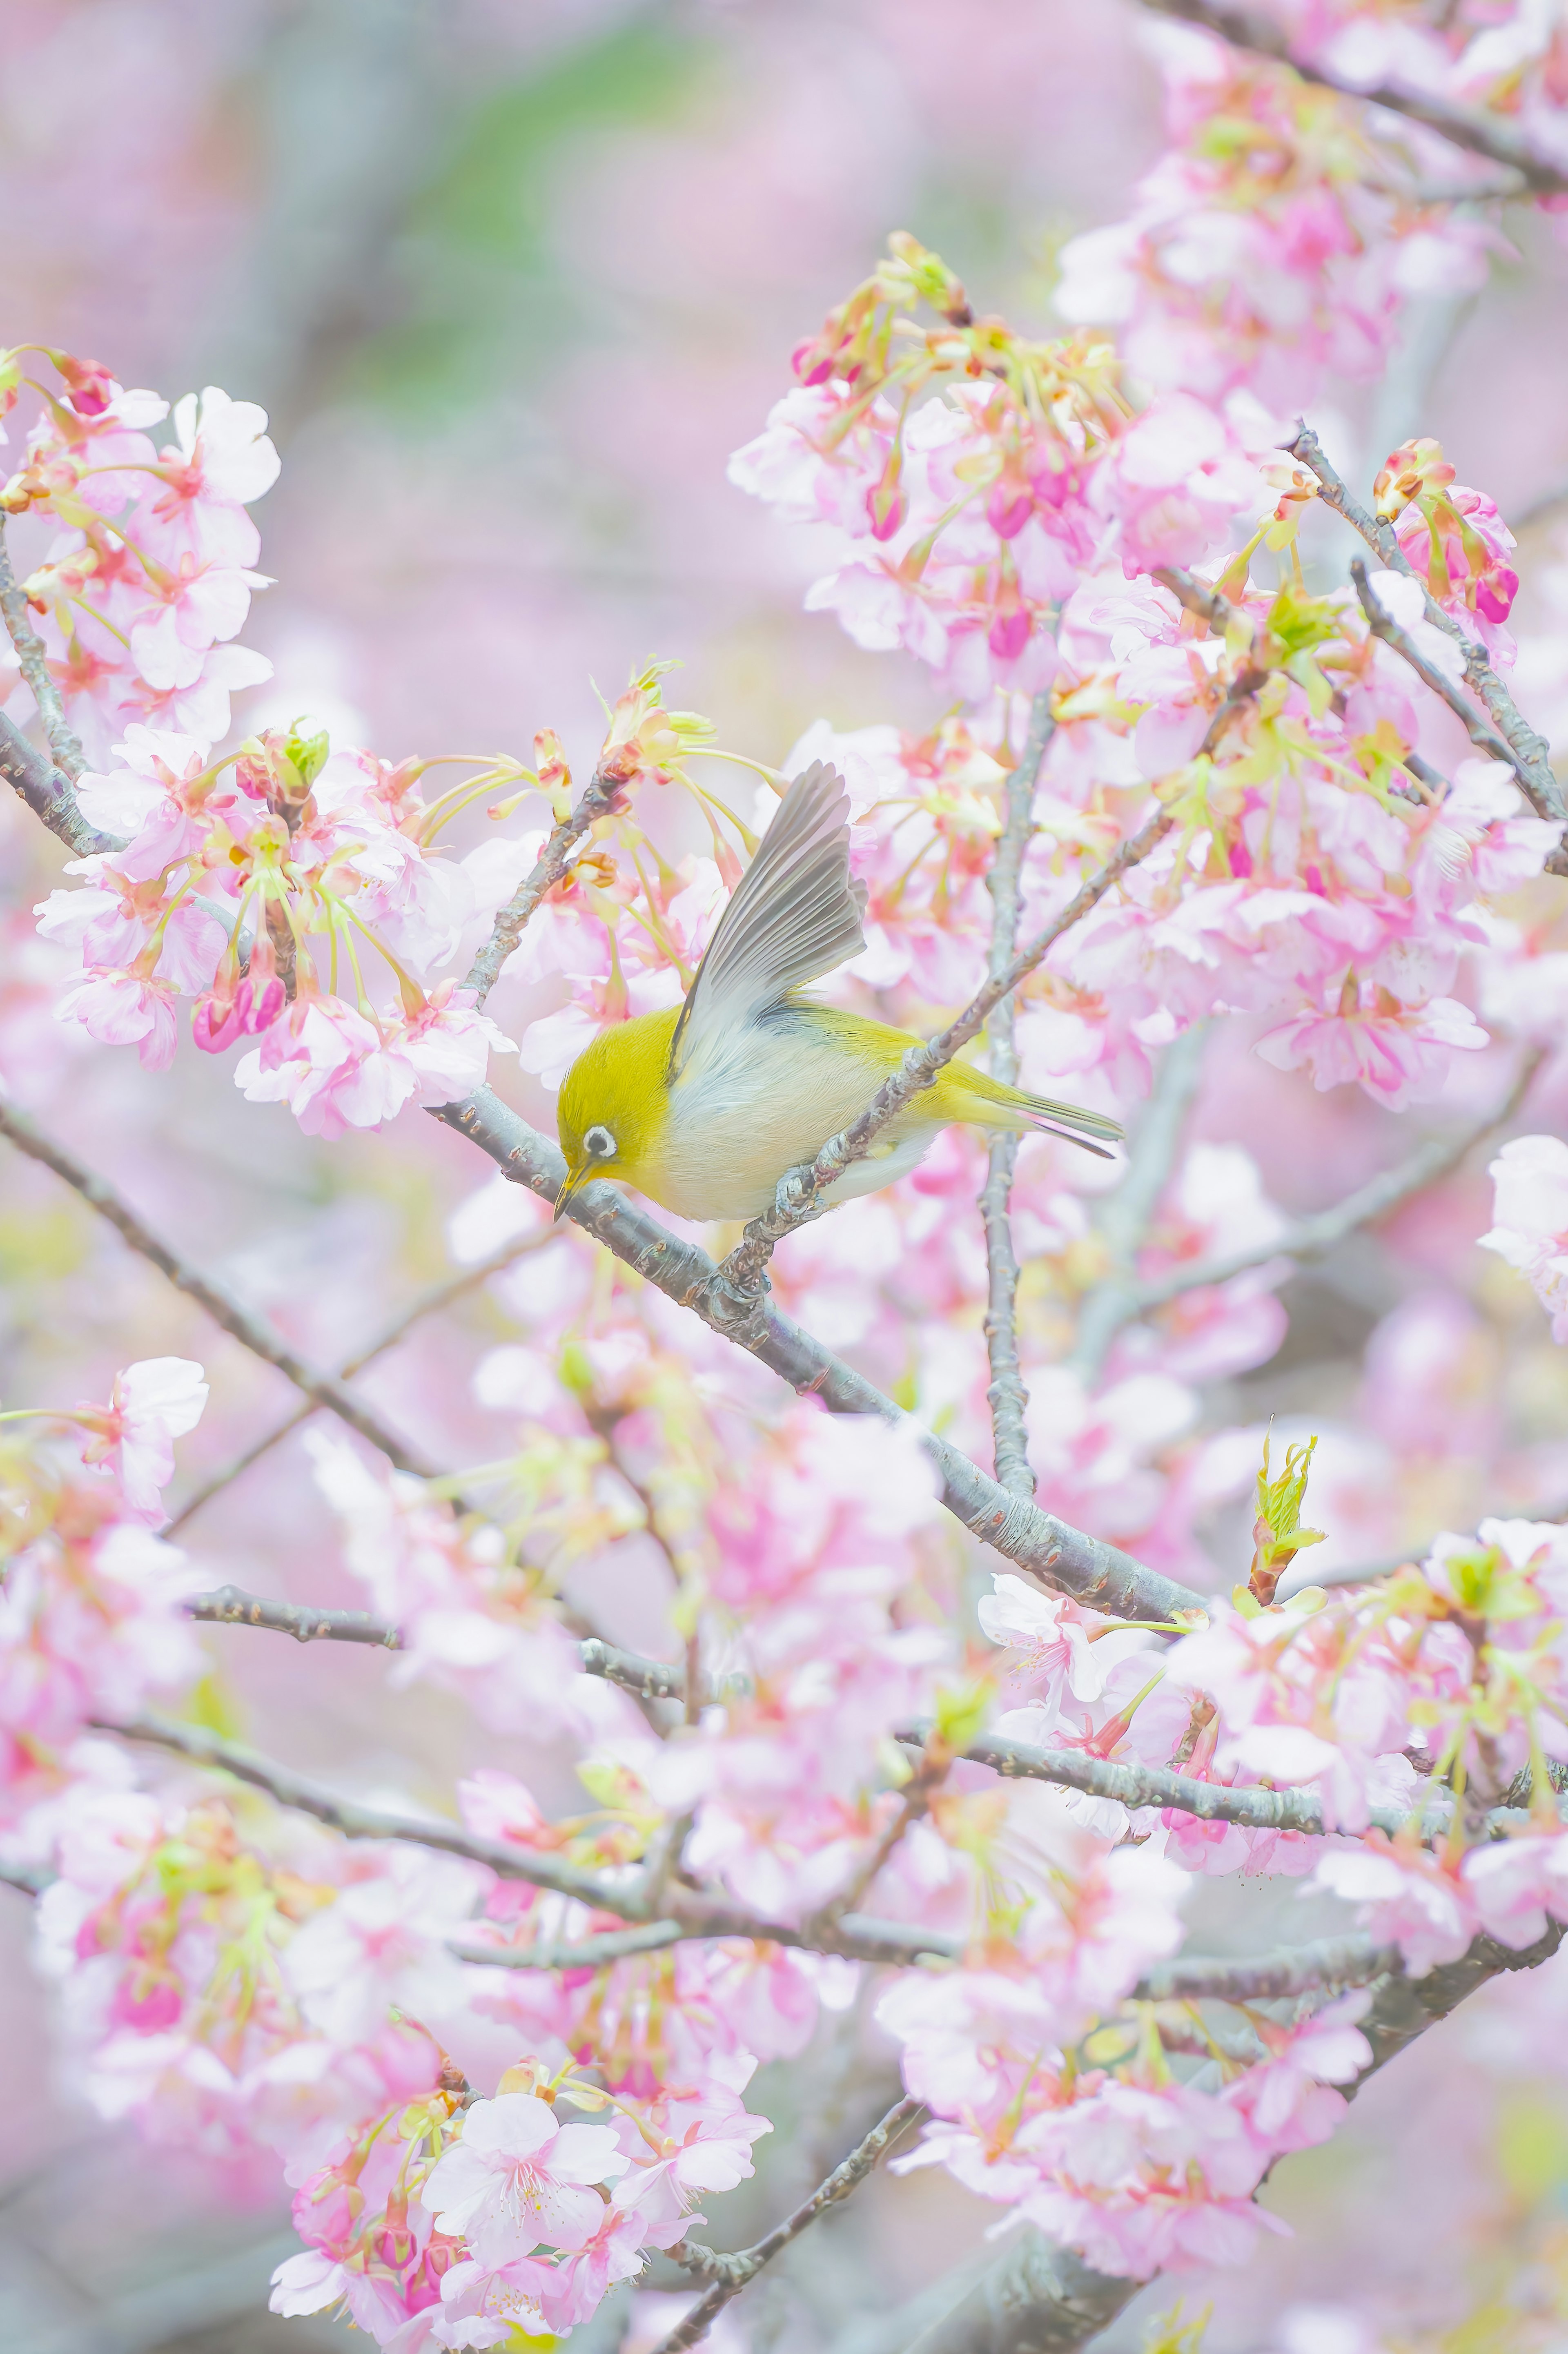
[[(567, 1182), (556, 1217), (589, 1177), (619, 1177), (690, 1219), (749, 1219), (779, 1177), (812, 1161), (871, 1102), (911, 1045), (906, 1031), (800, 996), (859, 956), (864, 883), (850, 880), (850, 803), (817, 760), (784, 793), (735, 897), (718, 918), (685, 1005), (636, 1015), (584, 1048), (560, 1088)], [(1104, 1153), (1121, 1128), (1097, 1111), (1008, 1088), (968, 1062), (883, 1128), (824, 1201), (876, 1193), (904, 1177), (937, 1132), (1045, 1130)]]

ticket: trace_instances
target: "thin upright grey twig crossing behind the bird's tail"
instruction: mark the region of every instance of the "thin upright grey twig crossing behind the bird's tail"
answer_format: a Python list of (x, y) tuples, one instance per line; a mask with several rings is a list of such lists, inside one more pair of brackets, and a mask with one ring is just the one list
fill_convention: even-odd
[[(1029, 709), (1029, 739), (1022, 758), (1008, 774), (1008, 819), (996, 843), (986, 890), (991, 892), (991, 953), (986, 972), (998, 979), (1017, 951), (1017, 902), (1024, 869), (1024, 852), (1034, 833), (1034, 789), (1041, 777), (1045, 749), (1055, 734), (1050, 713), (1050, 687), (1034, 697)], [(1003, 998), (991, 1008), (986, 1022), (991, 1045), (991, 1078), (1017, 1083), (1015, 1000)], [(986, 1401), (991, 1405), (991, 1452), (996, 1478), (1012, 1495), (1034, 1495), (1036, 1481), (1029, 1469), (1029, 1391), (1017, 1356), (1017, 1250), (1012, 1245), (1012, 1168), (1017, 1163), (1017, 1137), (996, 1135), (986, 1151), (986, 1182), (979, 1193), (979, 1215), (986, 1229), (986, 1356), (991, 1382)]]

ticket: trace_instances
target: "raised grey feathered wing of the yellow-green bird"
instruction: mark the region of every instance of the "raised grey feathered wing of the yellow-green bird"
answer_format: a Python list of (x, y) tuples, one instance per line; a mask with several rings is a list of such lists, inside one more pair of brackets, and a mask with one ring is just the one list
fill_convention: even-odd
[(815, 760), (784, 793), (685, 993), (669, 1069), (746, 1024), (791, 989), (822, 979), (866, 944), (866, 885), (850, 880), (850, 800)]

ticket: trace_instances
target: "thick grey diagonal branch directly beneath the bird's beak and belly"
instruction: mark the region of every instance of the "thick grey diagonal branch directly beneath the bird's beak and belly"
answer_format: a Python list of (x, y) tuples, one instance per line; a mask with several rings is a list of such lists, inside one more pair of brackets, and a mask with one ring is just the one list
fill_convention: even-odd
[[(565, 1179), (560, 1151), (501, 1104), (490, 1088), (478, 1088), (461, 1104), (443, 1104), (436, 1118), (471, 1137), (513, 1182), (530, 1186), (544, 1201), (556, 1201)], [(1170, 1620), (1182, 1610), (1203, 1612), (1203, 1598), (1189, 1587), (1180, 1587), (1175, 1580), (1147, 1570), (1118, 1547), (1057, 1521), (1029, 1497), (1008, 1495), (968, 1455), (961, 1455), (935, 1431), (918, 1429), (892, 1398), (885, 1398), (881, 1389), (768, 1302), (758, 1302), (746, 1330), (725, 1323), (713, 1309), (718, 1269), (706, 1250), (678, 1241), (645, 1210), (633, 1208), (619, 1186), (603, 1179), (582, 1186), (572, 1196), (567, 1217), (669, 1299), (702, 1316), (709, 1330), (744, 1346), (791, 1389), (822, 1398), (829, 1412), (876, 1415), (883, 1422), (916, 1429), (942, 1481), (946, 1509), (1015, 1568), (1111, 1617)]]

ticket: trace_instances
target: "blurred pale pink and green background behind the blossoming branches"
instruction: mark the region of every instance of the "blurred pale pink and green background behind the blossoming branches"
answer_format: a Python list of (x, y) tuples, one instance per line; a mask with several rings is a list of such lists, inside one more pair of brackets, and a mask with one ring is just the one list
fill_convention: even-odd
[[(817, 716), (937, 716), (902, 657), (862, 654), (800, 612), (810, 534), (725, 483), (791, 346), (890, 228), (935, 245), (979, 308), (1048, 325), (1062, 240), (1114, 219), (1158, 148), (1158, 78), (1130, 0), (0, 0), (0, 339), (64, 344), (167, 395), (221, 384), (268, 407), (283, 480), (259, 523), (278, 586), (247, 643), (278, 676), (240, 701), (242, 727), (315, 711), (400, 758), (527, 756), (553, 725), (582, 772), (600, 727), (593, 680), (614, 697), (629, 669), (680, 657), (671, 701), (779, 760)], [(1528, 525), (1542, 694), (1556, 692), (1552, 596), (1568, 603), (1552, 546), (1568, 483), (1566, 273), (1547, 224), (1523, 224), (1486, 294), (1415, 304), (1384, 381), (1318, 412), (1342, 464), (1439, 433), (1460, 478)], [(452, 1212), (483, 1172), (431, 1121), (323, 1149), (285, 1111), (242, 1106), (226, 1064), (181, 1055), (148, 1083), (132, 1057), (54, 1031), (40, 1019), (54, 960), (31, 904), (59, 864), (0, 807), (5, 1083), (306, 1354), (348, 1356), (450, 1266)], [(504, 998), (494, 1010), (506, 1019)], [(527, 1080), (506, 1085), (549, 1121)], [(1231, 1073), (1201, 1111), (1212, 1132), (1236, 1085), (1276, 1078)], [(1276, 1163), (1260, 1158), (1285, 1208), (1316, 1208), (1389, 1158), (1387, 1123), (1358, 1099), (1326, 1113), (1314, 1170), (1293, 1165), (1285, 1121), (1278, 1132)], [(1457, 1231), (1486, 1226), (1481, 1182), (1446, 1217), (1457, 1224), (1410, 1229), (1403, 1264), (1351, 1248), (1295, 1278), (1290, 1339), (1231, 1384), (1229, 1419), (1349, 1410), (1375, 1318)], [(1493, 1292), (1474, 1384), (1507, 1372), (1521, 1443), (1568, 1445), (1568, 1384), (1535, 1309), (1495, 1262), (1476, 1281)], [(497, 1429), (469, 1405), (469, 1372), (511, 1330), (506, 1297), (478, 1292), (365, 1387), (431, 1452), (476, 1459)], [(12, 1156), (0, 1351), (7, 1403), (104, 1394), (127, 1356), (200, 1356), (214, 1396), (181, 1452), (188, 1488), (290, 1405), (283, 1382)], [(181, 1542), (214, 1582), (358, 1601), (290, 1448)], [(657, 1638), (636, 1620), (617, 1634)], [(476, 1763), (454, 1704), (393, 1714), (381, 1662), (330, 1645), (257, 1643), (238, 1718), (233, 1641), (212, 1638), (214, 1721), (301, 1766), (367, 1794), (417, 1796), (414, 1775), (436, 1796)], [(523, 1742), (509, 1763), (542, 1773), (549, 1796)], [(1307, 1928), (1290, 1907), (1285, 1888), (1278, 1935)], [(49, 2060), (26, 1907), (5, 1893), (0, 1937), (2, 2354), (337, 2342), (325, 2323), (261, 2314), (292, 2248), (283, 2199), (233, 2206), (200, 2163), (89, 2119)], [(1526, 2079), (1530, 2039), (1563, 2029), (1549, 1991), (1530, 2001), (1535, 2013), (1500, 2003), (1429, 2039), (1363, 2097), (1347, 2137), (1281, 2168), (1271, 2199), (1302, 2236), (1222, 2286), (1222, 2354), (1274, 2347), (1281, 2305), (1330, 2295), (1328, 2255), (1347, 2276), (1450, 2279), (1481, 2222), (1507, 2241), (1514, 2208), (1556, 2196), (1563, 2128)], [(1502, 2107), (1476, 2107), (1488, 2069), (1519, 2079)], [(831, 2163), (845, 2135), (831, 2116), (810, 2126)], [(810, 2147), (760, 2156), (732, 2203), (739, 2232), (805, 2187), (791, 2166)], [(845, 2314), (866, 2279), (913, 2295), (989, 2220), (946, 2177), (878, 2185), (812, 2236), (817, 2288), (841, 2281)], [(1448, 2274), (1431, 2269), (1436, 2246)], [(725, 2345), (803, 2345), (770, 2295), (746, 2305), (749, 2340)], [(1137, 2342), (1149, 2309), (1118, 2345)]]

